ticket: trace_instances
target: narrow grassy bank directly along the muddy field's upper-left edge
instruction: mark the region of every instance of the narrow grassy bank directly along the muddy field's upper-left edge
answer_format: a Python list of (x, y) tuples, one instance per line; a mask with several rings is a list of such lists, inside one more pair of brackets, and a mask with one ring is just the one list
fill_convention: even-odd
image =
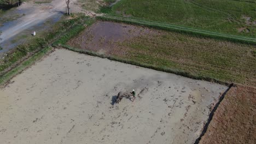
[(3, 85), (7, 81), (9, 81), (11, 78), (13, 78), (15, 75), (21, 73), (26, 68), (30, 67), (34, 62), (41, 59), (43, 56), (45, 56), (47, 53), (50, 53), (52, 51), (52, 47), (46, 47), (39, 52), (35, 53), (30, 58), (26, 59), (24, 62), (22, 62), (18, 67), (15, 67), (14, 69), (11, 69), (8, 71), (8, 73), (5, 73), (0, 77), (0, 85)]

